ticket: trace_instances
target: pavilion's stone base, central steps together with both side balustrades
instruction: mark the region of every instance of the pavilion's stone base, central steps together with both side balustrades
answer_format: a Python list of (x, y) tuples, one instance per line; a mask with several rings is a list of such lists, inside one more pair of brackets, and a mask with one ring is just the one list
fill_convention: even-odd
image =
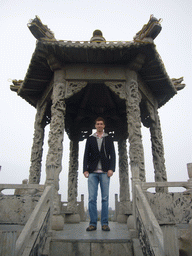
[[(14, 188), (20, 188), (20, 186), (21, 185), (14, 185)], [(146, 192), (150, 187), (179, 186), (185, 187), (187, 190), (183, 193), (151, 194)], [(25, 224), (21, 221), (17, 221), (18, 214), (15, 214), (15, 208), (11, 207), (11, 205), (6, 202), (4, 208), (1, 207), (4, 212), (2, 211), (1, 213), (2, 223), (0, 223), (0, 256), (176, 256), (179, 255), (179, 252), (182, 252), (182, 255), (184, 255), (184, 253), (185, 255), (192, 255), (191, 183), (141, 183), (137, 179), (133, 187), (133, 198), (135, 200), (133, 201), (133, 215), (129, 216), (128, 219), (130, 220), (128, 224), (129, 230), (126, 223), (118, 222), (110, 222), (110, 232), (102, 231), (99, 223), (96, 231), (87, 232), (86, 228), (88, 222), (65, 223), (63, 230), (52, 230), (52, 221), (57, 217), (54, 216), (53, 218), (52, 215), (52, 186), (45, 187), (43, 194), (39, 201), (37, 200), (38, 202)], [(7, 185), (3, 184), (0, 186), (0, 190), (4, 188), (7, 188)], [(26, 188), (31, 188), (31, 185), (30, 187), (27, 185)], [(167, 202), (168, 198), (169, 201)], [(2, 196), (1, 199), (2, 202), (6, 200), (4, 196)], [(18, 200), (18, 198), (16, 199)], [(32, 199), (33, 197), (31, 200)], [(31, 200), (29, 200), (29, 202), (31, 202)], [(24, 202), (23, 197), (21, 197), (20, 201), (21, 203)], [(156, 202), (157, 205), (155, 205), (154, 202)], [(164, 205), (163, 203), (165, 202), (166, 204)], [(176, 211), (175, 205), (178, 205)], [(159, 214), (160, 216), (167, 217), (167, 209), (170, 209), (169, 212), (172, 214), (168, 216), (171, 217), (171, 221), (169, 219), (168, 221), (159, 219)], [(12, 212), (10, 212), (11, 210)], [(162, 213), (164, 213), (164, 215), (162, 215)], [(25, 217), (25, 211), (21, 214), (21, 217)], [(20, 219), (22, 220), (22, 218)], [(131, 223), (134, 223), (134, 219), (137, 220), (137, 230), (133, 229), (131, 225)], [(157, 219), (161, 222), (160, 224)], [(56, 218), (56, 221), (58, 221), (58, 218)], [(54, 227), (54, 225), (52, 225), (52, 227)], [(58, 227), (60, 228), (59, 225)], [(143, 253), (139, 240), (135, 238), (136, 233), (140, 238)]]

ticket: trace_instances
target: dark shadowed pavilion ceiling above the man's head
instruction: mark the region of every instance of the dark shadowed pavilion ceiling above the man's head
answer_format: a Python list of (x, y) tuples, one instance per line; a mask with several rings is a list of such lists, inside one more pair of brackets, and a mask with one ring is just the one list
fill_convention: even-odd
[(89, 83), (66, 100), (65, 130), (71, 139), (83, 140), (92, 133), (98, 116), (105, 119), (105, 131), (114, 140), (127, 138), (125, 101), (102, 83)]

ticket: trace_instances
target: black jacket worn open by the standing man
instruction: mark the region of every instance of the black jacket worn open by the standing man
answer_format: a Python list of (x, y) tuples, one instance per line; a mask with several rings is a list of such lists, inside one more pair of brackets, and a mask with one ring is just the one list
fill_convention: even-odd
[(99, 151), (97, 138), (90, 136), (87, 139), (84, 153), (83, 172), (92, 173), (96, 170), (99, 160), (101, 160), (102, 170), (115, 171), (115, 148), (111, 137), (103, 137), (101, 151)]

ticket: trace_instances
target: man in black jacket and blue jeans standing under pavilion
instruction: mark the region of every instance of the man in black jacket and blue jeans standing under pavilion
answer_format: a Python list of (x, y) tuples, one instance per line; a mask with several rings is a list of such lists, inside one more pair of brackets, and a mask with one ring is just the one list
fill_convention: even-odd
[(101, 226), (103, 231), (110, 231), (108, 226), (109, 182), (115, 171), (115, 149), (113, 140), (104, 132), (105, 120), (95, 120), (96, 133), (88, 137), (83, 163), (83, 173), (88, 178), (90, 223), (87, 231), (97, 229), (97, 191), (100, 183), (102, 209)]

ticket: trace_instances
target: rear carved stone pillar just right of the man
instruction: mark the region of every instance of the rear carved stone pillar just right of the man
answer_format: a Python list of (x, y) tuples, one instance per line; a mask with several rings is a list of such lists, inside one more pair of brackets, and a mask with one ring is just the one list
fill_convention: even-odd
[(130, 193), (129, 193), (129, 174), (126, 138), (118, 140), (119, 152), (119, 181), (120, 181), (120, 204), (117, 216), (118, 222), (127, 223), (127, 217), (131, 214)]

